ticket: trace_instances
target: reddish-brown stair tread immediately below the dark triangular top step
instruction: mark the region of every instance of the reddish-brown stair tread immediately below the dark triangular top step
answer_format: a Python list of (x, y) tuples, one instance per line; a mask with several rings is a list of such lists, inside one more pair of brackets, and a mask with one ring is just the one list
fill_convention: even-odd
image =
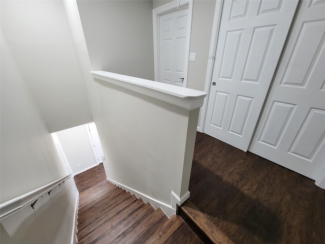
[(145, 243), (164, 243), (168, 237), (183, 223), (181, 217), (174, 215), (159, 231), (154, 233)]

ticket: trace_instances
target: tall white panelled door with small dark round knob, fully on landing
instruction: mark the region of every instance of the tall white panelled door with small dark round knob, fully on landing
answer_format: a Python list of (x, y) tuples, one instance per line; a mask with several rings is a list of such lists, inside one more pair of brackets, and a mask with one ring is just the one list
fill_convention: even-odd
[(247, 150), (298, 1), (224, 1), (204, 132)]

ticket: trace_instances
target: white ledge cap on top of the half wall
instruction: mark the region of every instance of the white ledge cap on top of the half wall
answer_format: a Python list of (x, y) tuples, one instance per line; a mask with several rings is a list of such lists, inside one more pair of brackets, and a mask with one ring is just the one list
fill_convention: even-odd
[(145, 96), (173, 104), (186, 110), (195, 110), (203, 105), (205, 92), (176, 85), (115, 74), (107, 71), (90, 71), (94, 79), (99, 79)]

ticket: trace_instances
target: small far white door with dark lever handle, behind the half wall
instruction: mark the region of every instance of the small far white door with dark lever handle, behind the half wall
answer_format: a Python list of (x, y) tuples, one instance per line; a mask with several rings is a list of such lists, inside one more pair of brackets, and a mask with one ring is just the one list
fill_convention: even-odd
[(180, 10), (159, 17), (159, 81), (185, 86), (187, 12)]

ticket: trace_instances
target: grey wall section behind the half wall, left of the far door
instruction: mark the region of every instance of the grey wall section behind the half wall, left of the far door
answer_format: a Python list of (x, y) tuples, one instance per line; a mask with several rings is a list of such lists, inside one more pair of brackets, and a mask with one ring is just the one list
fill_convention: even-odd
[(92, 70), (154, 79), (152, 1), (77, 1)]

